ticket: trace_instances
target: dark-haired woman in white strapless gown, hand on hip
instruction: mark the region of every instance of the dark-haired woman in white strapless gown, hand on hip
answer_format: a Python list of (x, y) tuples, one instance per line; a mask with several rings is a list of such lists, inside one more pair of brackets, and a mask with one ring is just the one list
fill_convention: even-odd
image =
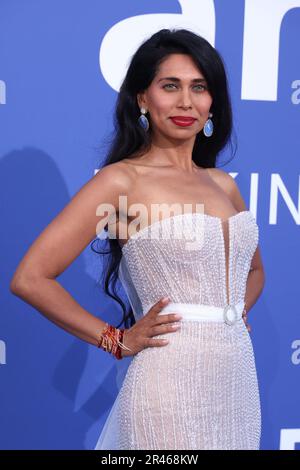
[[(131, 60), (116, 118), (106, 165), (34, 242), (11, 290), (79, 338), (132, 356), (96, 449), (258, 449), (247, 313), (264, 270), (254, 217), (216, 168), (232, 131), (220, 55), (191, 31), (157, 32)], [(106, 292), (118, 274), (132, 307), (125, 329), (55, 280), (103, 227)]]

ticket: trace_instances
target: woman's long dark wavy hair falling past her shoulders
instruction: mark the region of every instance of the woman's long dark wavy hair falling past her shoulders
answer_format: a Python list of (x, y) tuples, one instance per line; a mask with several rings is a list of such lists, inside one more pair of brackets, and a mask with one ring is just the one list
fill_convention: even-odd
[[(225, 66), (219, 52), (203, 37), (187, 29), (161, 29), (143, 42), (133, 55), (126, 76), (120, 88), (113, 115), (114, 131), (110, 139), (107, 156), (102, 167), (119, 162), (124, 158), (135, 158), (146, 153), (151, 147), (151, 118), (148, 132), (138, 124), (140, 109), (137, 95), (144, 92), (155, 78), (160, 64), (170, 54), (187, 54), (198, 66), (206, 79), (212, 96), (214, 132), (209, 138), (203, 132), (196, 135), (192, 159), (203, 168), (215, 168), (217, 155), (230, 143), (232, 149), (232, 108), (228, 91)], [(236, 148), (235, 148), (236, 150)], [(233, 152), (234, 155), (235, 151)], [(228, 163), (228, 162), (227, 162)], [(99, 165), (101, 167), (101, 165)], [(107, 225), (105, 227), (107, 230)], [(101, 240), (103, 242), (103, 240)], [(104, 269), (104, 291), (122, 307), (123, 318), (117, 328), (124, 323), (125, 328), (135, 323), (131, 306), (127, 311), (123, 300), (118, 296), (116, 283), (118, 267), (122, 258), (117, 239), (107, 237), (109, 250), (95, 248), (99, 238), (93, 240), (91, 248), (101, 255), (109, 255)]]

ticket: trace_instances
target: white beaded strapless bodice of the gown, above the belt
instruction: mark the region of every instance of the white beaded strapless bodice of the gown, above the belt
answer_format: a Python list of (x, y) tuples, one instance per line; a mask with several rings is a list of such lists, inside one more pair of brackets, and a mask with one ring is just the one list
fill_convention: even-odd
[(123, 246), (120, 264), (136, 318), (164, 295), (173, 302), (217, 307), (243, 300), (257, 244), (250, 211), (227, 220), (179, 214), (136, 232)]

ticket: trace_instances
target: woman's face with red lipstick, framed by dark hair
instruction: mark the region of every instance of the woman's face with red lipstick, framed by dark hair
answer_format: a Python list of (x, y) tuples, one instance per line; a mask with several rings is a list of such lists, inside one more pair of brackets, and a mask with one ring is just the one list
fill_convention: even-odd
[[(209, 117), (212, 97), (193, 59), (185, 54), (171, 54), (161, 63), (151, 85), (138, 96), (138, 104), (149, 111), (154, 135), (190, 139), (203, 129)], [(196, 120), (190, 126), (181, 127), (170, 119), (174, 116)]]

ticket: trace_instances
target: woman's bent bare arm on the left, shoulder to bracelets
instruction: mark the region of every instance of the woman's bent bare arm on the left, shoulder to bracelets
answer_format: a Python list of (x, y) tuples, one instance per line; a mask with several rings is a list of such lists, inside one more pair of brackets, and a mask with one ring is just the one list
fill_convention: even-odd
[[(102, 168), (71, 199), (30, 246), (10, 283), (13, 294), (39, 310), (51, 322), (96, 345), (105, 322), (82, 308), (56, 277), (79, 256), (118, 210), (130, 177), (117, 164)], [(99, 204), (111, 209), (99, 216)]]

